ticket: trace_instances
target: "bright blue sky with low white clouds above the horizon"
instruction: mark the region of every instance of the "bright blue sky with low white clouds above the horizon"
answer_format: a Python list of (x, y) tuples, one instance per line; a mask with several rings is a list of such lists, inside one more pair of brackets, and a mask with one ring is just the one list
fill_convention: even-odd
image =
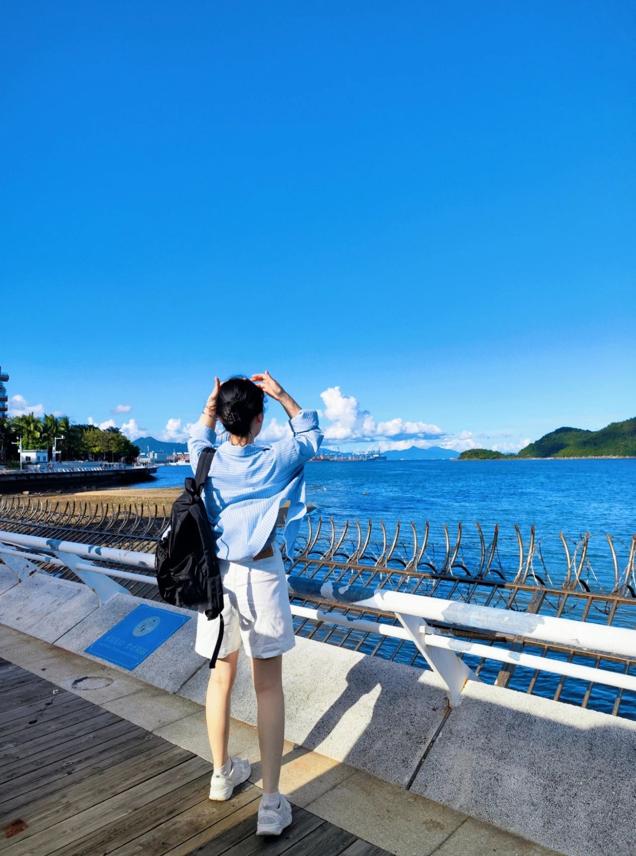
[(177, 439), (265, 368), (341, 448), (636, 413), (633, 3), (9, 2), (3, 34), (14, 413)]

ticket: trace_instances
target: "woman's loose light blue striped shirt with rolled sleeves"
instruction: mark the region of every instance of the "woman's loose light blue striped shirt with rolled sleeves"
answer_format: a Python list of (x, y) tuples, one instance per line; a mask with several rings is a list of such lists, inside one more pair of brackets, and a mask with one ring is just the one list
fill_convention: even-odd
[[(318, 451), (323, 435), (315, 410), (301, 410), (289, 424), (293, 436), (270, 446), (233, 446), (226, 441), (216, 450), (203, 500), (220, 559), (238, 562), (260, 553), (272, 540), (286, 499), (290, 507), (284, 536), (287, 555), (293, 555), (300, 521), (307, 512), (303, 468)], [(196, 422), (189, 433), (190, 463), (196, 473), (199, 455), (215, 445), (216, 432)]]

